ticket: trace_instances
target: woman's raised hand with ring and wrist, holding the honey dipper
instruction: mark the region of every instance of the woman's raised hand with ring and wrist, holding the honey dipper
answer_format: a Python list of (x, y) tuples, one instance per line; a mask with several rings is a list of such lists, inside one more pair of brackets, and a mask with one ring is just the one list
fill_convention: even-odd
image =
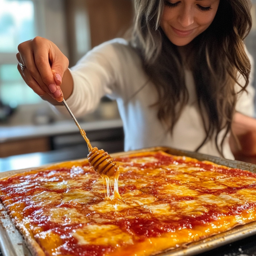
[[(51, 41), (35, 37), (18, 45), (18, 70), (32, 90), (52, 104), (67, 99), (73, 91), (68, 58)], [(21, 66), (25, 65), (23, 71)], [(55, 100), (53, 100), (55, 99)]]

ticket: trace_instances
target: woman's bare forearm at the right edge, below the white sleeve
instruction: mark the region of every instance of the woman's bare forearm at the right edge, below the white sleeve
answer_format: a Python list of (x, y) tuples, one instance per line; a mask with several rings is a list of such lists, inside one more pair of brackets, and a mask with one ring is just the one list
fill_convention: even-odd
[(232, 131), (230, 148), (235, 159), (256, 164), (256, 119), (237, 112)]

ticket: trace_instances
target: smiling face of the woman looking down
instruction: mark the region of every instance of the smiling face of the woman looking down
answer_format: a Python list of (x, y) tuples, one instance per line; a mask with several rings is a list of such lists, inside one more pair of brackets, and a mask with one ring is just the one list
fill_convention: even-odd
[(211, 25), (219, 2), (220, 0), (165, 0), (160, 26), (173, 44), (187, 45)]

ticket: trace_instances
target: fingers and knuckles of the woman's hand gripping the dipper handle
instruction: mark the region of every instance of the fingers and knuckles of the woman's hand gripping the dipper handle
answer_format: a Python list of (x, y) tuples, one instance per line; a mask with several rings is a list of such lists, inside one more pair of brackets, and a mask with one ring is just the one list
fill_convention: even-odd
[[(56, 45), (41, 37), (21, 43), (18, 46), (18, 50), (19, 53), (16, 57), (19, 65), (26, 66), (23, 72), (21, 68), (18, 67), (18, 69), (25, 82), (29, 84), (29, 87), (37, 94), (40, 93), (40, 96), (43, 95), (42, 91), (44, 91), (56, 100), (62, 101), (62, 92), (58, 85), (61, 84), (64, 69), (68, 68), (68, 61), (65, 55)], [(50, 63), (56, 66), (58, 73), (55, 72), (53, 75)]]

